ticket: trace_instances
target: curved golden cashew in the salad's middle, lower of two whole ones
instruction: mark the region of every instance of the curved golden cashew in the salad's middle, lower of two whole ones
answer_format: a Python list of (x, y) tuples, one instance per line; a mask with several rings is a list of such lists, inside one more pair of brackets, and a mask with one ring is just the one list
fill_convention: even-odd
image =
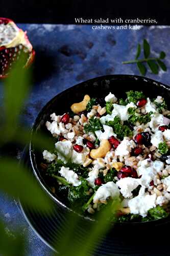
[(100, 147), (96, 148), (96, 150), (91, 150), (90, 157), (93, 159), (97, 159), (100, 157), (105, 157), (106, 154), (110, 151), (111, 145), (108, 140), (102, 140)]

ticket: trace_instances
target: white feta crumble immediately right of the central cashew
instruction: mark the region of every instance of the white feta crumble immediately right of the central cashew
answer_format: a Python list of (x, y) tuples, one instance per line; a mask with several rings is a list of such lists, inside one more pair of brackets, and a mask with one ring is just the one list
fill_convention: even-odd
[(115, 156), (127, 156), (134, 147), (136, 147), (136, 144), (133, 140), (124, 139), (116, 148)]

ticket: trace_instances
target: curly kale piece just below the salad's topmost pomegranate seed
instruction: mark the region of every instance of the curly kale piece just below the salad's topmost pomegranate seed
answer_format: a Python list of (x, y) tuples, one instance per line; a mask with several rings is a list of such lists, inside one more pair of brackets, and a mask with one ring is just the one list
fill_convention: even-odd
[(151, 115), (153, 114), (153, 112), (147, 113), (145, 115), (141, 115), (136, 113), (136, 109), (134, 108), (129, 108), (128, 112), (130, 114), (129, 118), (128, 118), (128, 122), (135, 124), (136, 122), (141, 123), (148, 123), (151, 121)]

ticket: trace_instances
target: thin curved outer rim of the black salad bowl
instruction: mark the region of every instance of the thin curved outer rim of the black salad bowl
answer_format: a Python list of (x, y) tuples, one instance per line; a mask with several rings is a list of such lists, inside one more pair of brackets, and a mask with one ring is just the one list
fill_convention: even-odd
[[(32, 129), (31, 129), (31, 136), (30, 136), (30, 143), (29, 143), (29, 156), (30, 156), (30, 161), (31, 161), (31, 166), (32, 166), (32, 169), (33, 169), (33, 174), (34, 176), (36, 177), (36, 180), (38, 181), (38, 183), (40, 184), (40, 186), (43, 188), (43, 190), (45, 191), (45, 193), (53, 200), (53, 202), (57, 203), (57, 205), (60, 205), (63, 209), (67, 210), (68, 212), (73, 212), (74, 214), (78, 215), (79, 217), (87, 220), (87, 221), (92, 221), (92, 222), (95, 222), (96, 220), (94, 218), (90, 218), (88, 216), (83, 216), (81, 214), (79, 214), (79, 212), (69, 208), (68, 206), (66, 206), (63, 202), (61, 202), (59, 199), (57, 199), (57, 197), (55, 197), (53, 195), (53, 193), (47, 189), (47, 187), (45, 186), (45, 184), (42, 183), (42, 181), (40, 180), (40, 178), (38, 177), (38, 174), (36, 172), (36, 167), (35, 167), (35, 164), (34, 164), (34, 153), (33, 153), (33, 149), (32, 149), (32, 145), (33, 145), (33, 142), (32, 142), (32, 137), (33, 137), (33, 134), (34, 134), (34, 130), (35, 130), (35, 125), (39, 119), (40, 116), (42, 116), (42, 113), (44, 112), (44, 110), (46, 109), (47, 105), (50, 105), (51, 102), (53, 102), (57, 97), (60, 97), (63, 93), (66, 93), (68, 92), (70, 89), (74, 89), (76, 87), (79, 87), (81, 86), (81, 84), (84, 84), (84, 83), (88, 83), (88, 82), (95, 82), (96, 80), (98, 79), (116, 79), (116, 78), (129, 78), (129, 79), (134, 79), (134, 80), (142, 80), (144, 82), (151, 82), (153, 84), (155, 84), (155, 86), (159, 86), (159, 87), (162, 87), (164, 88), (165, 90), (169, 90), (170, 91), (170, 86), (168, 86), (167, 84), (164, 84), (160, 81), (156, 81), (154, 79), (151, 79), (151, 78), (148, 78), (148, 77), (144, 77), (144, 76), (139, 76), (139, 75), (128, 75), (128, 74), (113, 74), (113, 75), (104, 75), (104, 76), (98, 76), (98, 77), (94, 77), (94, 78), (91, 78), (91, 79), (88, 79), (88, 80), (85, 80), (85, 81), (82, 81), (80, 83), (77, 83), (75, 84), (74, 86), (71, 86), (67, 89), (65, 89), (64, 91), (61, 91), (60, 93), (58, 93), (57, 95), (55, 95), (52, 99), (50, 99), (49, 101), (46, 102), (46, 104), (43, 106), (43, 108), (39, 111), (33, 125), (32, 125)], [(126, 226), (126, 225), (145, 225), (145, 224), (152, 224), (152, 223), (155, 223), (156, 225), (160, 225), (163, 223), (165, 223), (165, 221), (169, 222), (167, 220), (168, 217), (166, 218), (162, 218), (162, 219), (158, 219), (158, 220), (152, 220), (152, 221), (148, 221), (148, 222), (123, 222), (123, 223), (120, 223), (120, 222), (117, 222), (115, 223), (116, 225), (118, 226)]]

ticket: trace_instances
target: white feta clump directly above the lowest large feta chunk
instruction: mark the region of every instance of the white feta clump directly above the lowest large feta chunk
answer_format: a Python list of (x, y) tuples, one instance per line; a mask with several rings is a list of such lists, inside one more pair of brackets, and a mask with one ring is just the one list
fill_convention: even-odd
[(153, 180), (157, 184), (156, 175), (163, 170), (164, 164), (161, 161), (144, 159), (139, 161), (137, 172), (138, 176), (141, 175), (140, 183), (144, 187), (150, 187), (150, 182)]

